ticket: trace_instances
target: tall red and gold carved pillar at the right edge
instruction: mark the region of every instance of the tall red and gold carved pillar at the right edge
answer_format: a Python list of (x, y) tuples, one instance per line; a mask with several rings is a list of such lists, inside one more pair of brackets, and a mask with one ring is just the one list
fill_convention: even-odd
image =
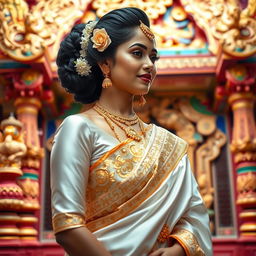
[(236, 170), (239, 231), (242, 237), (256, 237), (256, 127), (254, 119), (255, 79), (246, 66), (226, 72), (229, 104), (233, 111), (230, 149)]

